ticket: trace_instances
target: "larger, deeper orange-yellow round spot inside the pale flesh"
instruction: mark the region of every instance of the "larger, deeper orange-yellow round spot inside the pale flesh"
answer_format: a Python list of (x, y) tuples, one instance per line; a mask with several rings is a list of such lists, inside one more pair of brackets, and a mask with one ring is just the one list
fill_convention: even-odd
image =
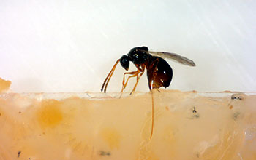
[(42, 127), (56, 127), (63, 119), (61, 103), (57, 100), (44, 100), (37, 113), (37, 120)]

